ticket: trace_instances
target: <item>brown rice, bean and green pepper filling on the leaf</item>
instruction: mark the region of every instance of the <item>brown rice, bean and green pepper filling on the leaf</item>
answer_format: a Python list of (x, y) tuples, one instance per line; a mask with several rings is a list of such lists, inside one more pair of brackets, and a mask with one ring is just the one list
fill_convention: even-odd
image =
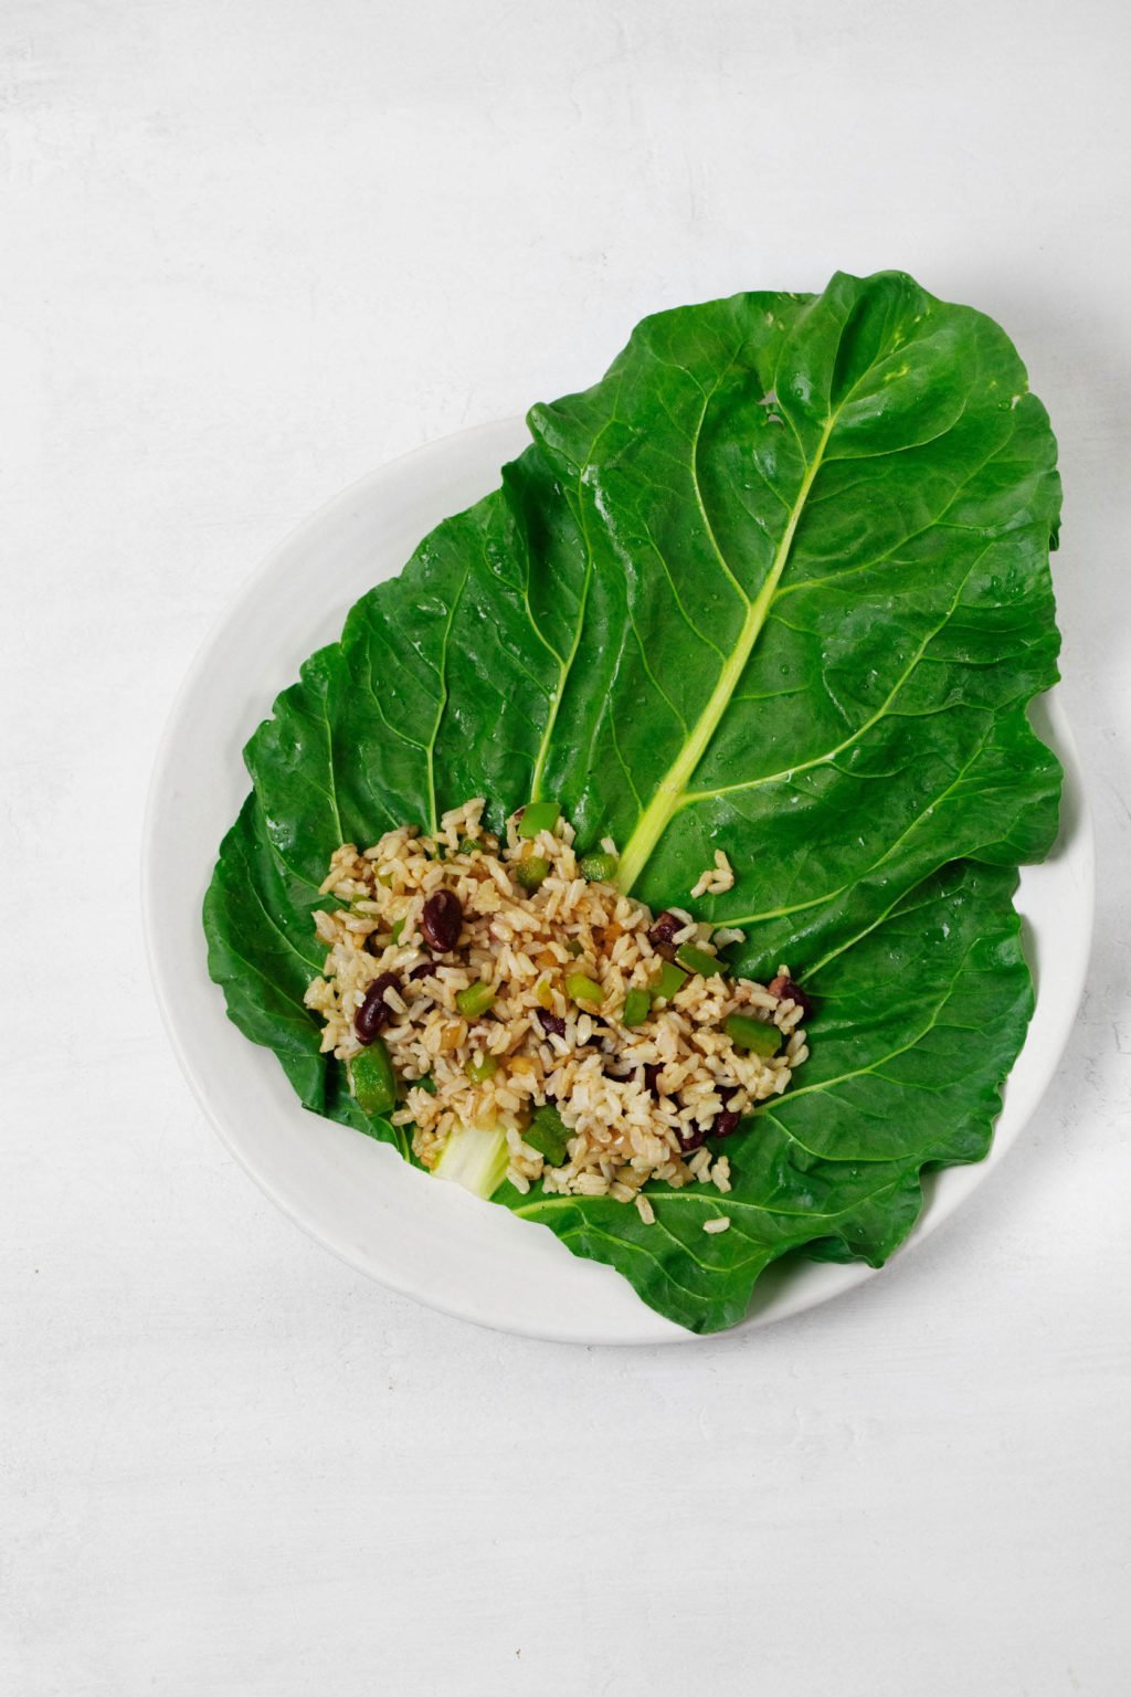
[[(341, 906), (314, 915), (327, 957), (305, 996), (322, 1050), (363, 1112), (412, 1127), (426, 1168), (482, 1127), (505, 1134), (521, 1191), (612, 1196), (648, 1224), (649, 1179), (727, 1191), (714, 1145), (809, 1054), (788, 967), (729, 976), (719, 949), (743, 933), (622, 894), (616, 843), (578, 857), (556, 803), (502, 840), (483, 809), (334, 852), (322, 894)], [(717, 854), (695, 891), (731, 882)]]

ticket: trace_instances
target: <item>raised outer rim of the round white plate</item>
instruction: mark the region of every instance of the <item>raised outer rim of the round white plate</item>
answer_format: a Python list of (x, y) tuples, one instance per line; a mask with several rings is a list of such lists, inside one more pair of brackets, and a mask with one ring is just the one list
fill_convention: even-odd
[[(276, 574), (287, 568), (287, 562), (309, 550), (319, 536), (334, 526), (341, 526), (351, 512), (365, 509), (376, 496), (388, 490), (390, 485), (398, 480), (410, 479), (412, 473), (422, 467), (437, 465), (446, 456), (458, 456), (460, 453), (475, 453), (476, 450), (485, 450), (487, 445), (492, 446), (492, 463), (497, 475), (499, 465), (504, 463), (499, 458), (499, 446), (507, 443), (519, 443), (519, 429), (524, 429), (524, 421), (517, 416), (493, 419), (480, 423), (441, 438), (434, 438), (409, 450), (407, 453), (397, 455), (392, 460), (373, 467), (363, 477), (356, 479), (339, 494), (332, 496), (329, 501), (315, 507), (307, 518), (287, 531), (268, 552), (259, 558), (256, 567), (239, 582), (234, 594), (227, 599), (217, 618), (209, 626), (203, 640), (200, 641), (181, 682), (176, 689), (163, 731), (158, 742), (158, 748), (153, 760), (149, 789), (146, 796), (146, 809), (142, 820), (141, 833), (141, 915), (142, 915), (142, 932), (144, 932), (144, 949), (146, 961), (149, 967), (149, 977), (153, 983), (154, 996), (161, 1013), (164, 1030), (170, 1039), (170, 1045), (176, 1057), (176, 1062), (193, 1093), (198, 1105), (203, 1108), (209, 1122), (212, 1123), (220, 1144), (227, 1152), (239, 1162), (239, 1166), (248, 1173), (248, 1176), (258, 1185), (258, 1188), (270, 1198), (270, 1201), (280, 1208), (287, 1218), (293, 1220), (309, 1237), (319, 1242), (322, 1247), (329, 1249), (331, 1254), (344, 1261), (346, 1266), (368, 1278), (376, 1280), (380, 1285), (395, 1290), (398, 1295), (410, 1297), (415, 1302), (424, 1303), (434, 1310), (444, 1312), (460, 1320), (470, 1320), (471, 1324), (483, 1325), (493, 1330), (502, 1330), (515, 1336), (536, 1337), (551, 1342), (577, 1342), (577, 1344), (609, 1344), (609, 1346), (653, 1346), (658, 1342), (702, 1342), (709, 1339), (719, 1339), (727, 1336), (736, 1336), (748, 1332), (755, 1327), (777, 1324), (780, 1320), (790, 1319), (795, 1313), (802, 1313), (809, 1308), (819, 1307), (826, 1302), (834, 1300), (839, 1295), (856, 1290), (860, 1285), (875, 1278), (878, 1273), (897, 1264), (917, 1242), (922, 1242), (931, 1232), (934, 1232), (946, 1218), (950, 1218), (967, 1200), (967, 1196), (978, 1188), (989, 1176), (989, 1173), (1000, 1164), (1009, 1149), (1017, 1142), (1022, 1130), (1026, 1129), (1031, 1115), (1036, 1112), (1039, 1101), (1046, 1095), (1051, 1079), (1060, 1066), (1072, 1025), (1080, 1005), (1084, 993), (1084, 984), (1087, 979), (1087, 967), (1092, 949), (1092, 928), (1095, 915), (1095, 845), (1094, 845), (1094, 826), (1092, 813), (1089, 806), (1087, 789), (1084, 784), (1084, 770), (1080, 765), (1078, 748), (1072, 725), (1065, 713), (1063, 703), (1056, 689), (1048, 691), (1043, 697), (1036, 697), (1045, 711), (1050, 730), (1053, 733), (1053, 752), (1061, 760), (1065, 770), (1065, 804), (1061, 806), (1061, 835), (1055, 848), (1050, 852), (1048, 860), (1055, 859), (1058, 850), (1072, 857), (1082, 891), (1082, 906), (1085, 923), (1082, 925), (1075, 952), (1070, 961), (1070, 971), (1065, 974), (1063, 969), (1058, 974), (1061, 994), (1060, 1005), (1063, 1008), (1063, 1018), (1058, 1027), (1058, 1040), (1053, 1045), (1053, 1052), (1045, 1059), (1041, 1067), (1039, 1088), (1033, 1093), (1033, 1100), (1028, 1108), (1017, 1117), (1014, 1125), (1007, 1125), (1006, 1134), (999, 1132), (1000, 1118), (994, 1127), (994, 1140), (987, 1156), (978, 1162), (956, 1164), (939, 1169), (938, 1174), (929, 1176), (929, 1193), (924, 1198), (924, 1207), (916, 1220), (907, 1239), (899, 1246), (897, 1251), (883, 1263), (883, 1266), (873, 1268), (863, 1261), (853, 1263), (795, 1263), (788, 1268), (788, 1283), (783, 1291), (775, 1290), (775, 1271), (770, 1268), (758, 1281), (755, 1288), (755, 1302), (746, 1319), (736, 1327), (724, 1332), (697, 1334), (666, 1317), (656, 1313), (649, 1308), (643, 1298), (632, 1291), (636, 1308), (639, 1312), (639, 1324), (626, 1325), (622, 1329), (612, 1327), (607, 1336), (597, 1337), (587, 1329), (578, 1329), (568, 1320), (556, 1322), (553, 1315), (546, 1317), (544, 1324), (536, 1329), (527, 1324), (517, 1324), (514, 1320), (500, 1319), (495, 1315), (485, 1315), (476, 1312), (475, 1303), (463, 1300), (460, 1291), (453, 1291), (449, 1298), (437, 1298), (436, 1293), (426, 1293), (414, 1286), (412, 1278), (400, 1266), (382, 1268), (380, 1271), (365, 1259), (359, 1252), (351, 1252), (348, 1244), (336, 1241), (331, 1232), (327, 1232), (319, 1220), (304, 1213), (302, 1207), (295, 1201), (285, 1188), (280, 1186), (276, 1178), (270, 1169), (265, 1169), (261, 1162), (256, 1162), (249, 1151), (239, 1142), (239, 1137), (232, 1127), (226, 1122), (210, 1093), (207, 1089), (207, 1079), (202, 1076), (200, 1066), (190, 1056), (188, 1045), (185, 1042), (185, 1033), (181, 1030), (181, 1022), (176, 1013), (176, 974), (171, 971), (170, 961), (166, 959), (164, 944), (161, 942), (161, 872), (158, 867), (158, 838), (161, 832), (161, 811), (163, 806), (170, 806), (170, 789), (173, 784), (173, 767), (175, 755), (178, 748), (178, 740), (187, 735), (187, 720), (190, 716), (193, 696), (198, 691), (202, 679), (205, 677), (209, 665), (215, 657), (215, 650), (222, 645), (226, 635), (231, 633), (232, 626), (237, 624), (241, 614), (246, 608), (256, 602), (261, 587), (270, 582)], [(505, 458), (507, 455), (504, 455)], [(487, 494), (493, 487), (488, 484), (482, 492)], [(392, 575), (392, 574), (383, 574)], [(375, 577), (375, 582), (382, 579), (382, 574)], [(341, 628), (341, 621), (337, 623)], [(314, 652), (312, 647), (307, 653)], [(276, 687), (271, 686), (270, 679), (265, 679), (265, 689), (256, 692), (259, 701), (259, 718), (265, 718), (271, 711), (271, 704), (280, 689), (287, 687), (292, 679), (280, 682)], [(266, 699), (265, 699), (266, 697)], [(241, 740), (242, 748), (242, 740)], [(242, 767), (241, 767), (242, 769)], [(1065, 815), (1070, 813), (1068, 823), (1065, 823)], [(219, 842), (214, 845), (219, 848)], [(1045, 864), (1048, 864), (1048, 860)], [(1024, 869), (1022, 869), (1024, 872)], [(198, 913), (197, 913), (198, 923)], [(203, 932), (200, 928), (200, 935)], [(1033, 962), (1031, 962), (1033, 966)], [(219, 996), (219, 986), (212, 986)], [(1038, 993), (1034, 1000), (1034, 1018), (1036, 1008), (1039, 1006), (1039, 981)], [(217, 1011), (227, 1020), (226, 1006), (219, 1006)], [(1033, 1020), (1026, 1032), (1026, 1044), (1033, 1032)], [(241, 1033), (242, 1037), (242, 1033)], [(251, 1042), (244, 1039), (244, 1042)], [(259, 1045), (251, 1045), (259, 1049)], [(1024, 1045), (1021, 1054), (1024, 1052)], [(265, 1059), (270, 1059), (278, 1066), (271, 1050), (261, 1050)], [(1012, 1078), (1017, 1062), (1011, 1069), (1009, 1078)], [(1009, 1079), (1006, 1081), (1006, 1084)], [(331, 1125), (334, 1122), (320, 1122)], [(348, 1134), (356, 1137), (358, 1134)], [(387, 1154), (392, 1154), (395, 1161), (400, 1157), (395, 1152), (387, 1151), (385, 1145), (378, 1145)], [(475, 1198), (465, 1198), (466, 1203), (473, 1207), (490, 1207), (475, 1201)], [(515, 1222), (527, 1224), (527, 1222)], [(566, 1251), (568, 1252), (568, 1251)], [(578, 1261), (571, 1257), (580, 1266), (595, 1266), (593, 1263)], [(621, 1276), (612, 1269), (604, 1269), (621, 1281)], [(626, 1281), (621, 1281), (627, 1286)]]

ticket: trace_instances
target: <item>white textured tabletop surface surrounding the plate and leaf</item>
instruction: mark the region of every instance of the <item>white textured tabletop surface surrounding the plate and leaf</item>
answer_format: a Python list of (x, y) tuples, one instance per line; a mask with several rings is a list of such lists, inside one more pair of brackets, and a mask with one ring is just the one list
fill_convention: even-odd
[[(3, 7), (5, 1694), (1126, 1692), (1129, 48), (1117, 0)], [(1000, 317), (1061, 441), (1070, 1057), (800, 1320), (590, 1353), (415, 1308), (271, 1210), (159, 1030), (178, 677), (382, 458), (653, 307), (889, 263)]]

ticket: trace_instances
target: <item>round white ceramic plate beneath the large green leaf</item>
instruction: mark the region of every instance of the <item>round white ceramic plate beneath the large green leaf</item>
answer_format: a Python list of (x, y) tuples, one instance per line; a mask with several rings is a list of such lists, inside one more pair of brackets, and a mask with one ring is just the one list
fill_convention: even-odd
[[(276, 548), (212, 633), (173, 709), (149, 796), (142, 903), (173, 1047), (232, 1154), (278, 1207), (351, 1266), (434, 1308), (532, 1337), (587, 1344), (688, 1341), (610, 1268), (548, 1230), (439, 1185), (392, 1149), (305, 1113), (266, 1049), (229, 1023), (209, 981), (200, 903), (220, 837), (248, 791), (241, 748), (298, 664), (334, 640), (358, 596), (400, 570), (439, 519), (495, 487), (527, 436), (512, 419), (421, 448), (346, 490)], [(1021, 879), (1038, 1003), (1009, 1078), (994, 1151), (933, 1181), (912, 1242), (1002, 1159), (1063, 1052), (1092, 930), (1092, 832), (1072, 731), (1055, 697), (1039, 730), (1065, 762), (1063, 832)], [(760, 1283), (748, 1325), (872, 1278), (863, 1264), (799, 1263)]]

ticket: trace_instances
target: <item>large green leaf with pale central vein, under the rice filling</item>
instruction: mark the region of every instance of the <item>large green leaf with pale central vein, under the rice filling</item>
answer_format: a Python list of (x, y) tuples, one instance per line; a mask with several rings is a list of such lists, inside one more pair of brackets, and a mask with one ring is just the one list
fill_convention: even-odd
[(922, 1164), (985, 1151), (1029, 1008), (1014, 869), (1056, 830), (1026, 716), (1056, 675), (1055, 441), (1006, 334), (899, 273), (646, 319), (529, 424), (251, 740), (210, 966), (304, 1103), (356, 1123), (302, 1006), (339, 842), (553, 794), (655, 906), (724, 848), (704, 916), (821, 998), (804, 1083), (729, 1145), (734, 1195), (660, 1191), (658, 1227), (499, 1198), (712, 1329), (787, 1249), (883, 1259)]

